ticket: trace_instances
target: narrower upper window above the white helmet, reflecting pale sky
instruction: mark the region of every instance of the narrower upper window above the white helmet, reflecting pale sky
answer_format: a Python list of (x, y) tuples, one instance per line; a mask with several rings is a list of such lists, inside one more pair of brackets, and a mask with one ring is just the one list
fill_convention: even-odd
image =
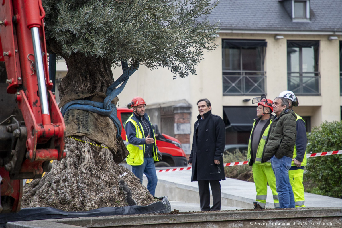
[(319, 41), (287, 41), (287, 88), (296, 95), (320, 95)]

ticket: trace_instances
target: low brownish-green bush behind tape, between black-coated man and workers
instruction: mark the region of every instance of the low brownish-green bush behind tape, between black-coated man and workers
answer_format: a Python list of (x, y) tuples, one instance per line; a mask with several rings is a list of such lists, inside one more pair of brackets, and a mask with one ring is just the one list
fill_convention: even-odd
[[(223, 156), (223, 162), (238, 162), (247, 161), (247, 155), (237, 150), (233, 153), (225, 153)], [(224, 174), (226, 177), (235, 178), (239, 180), (247, 180), (253, 182), (252, 166), (249, 165), (237, 165), (224, 167)]]

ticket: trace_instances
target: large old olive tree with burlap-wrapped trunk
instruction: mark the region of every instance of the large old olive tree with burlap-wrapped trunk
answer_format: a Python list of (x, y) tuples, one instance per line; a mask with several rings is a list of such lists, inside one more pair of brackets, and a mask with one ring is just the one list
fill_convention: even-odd
[[(61, 104), (103, 101), (119, 75), (111, 67), (165, 67), (173, 77), (196, 73), (203, 51), (211, 51), (217, 23), (210, 0), (45, 0), (47, 50), (65, 59), (68, 72), (58, 88)], [(116, 105), (117, 97), (112, 101)], [(23, 205), (87, 211), (103, 206), (144, 205), (154, 198), (132, 173), (117, 165), (126, 155), (106, 116), (70, 110), (66, 159), (25, 185)], [(76, 123), (75, 123), (76, 122)], [(103, 125), (101, 125), (103, 124)], [(80, 130), (83, 129), (83, 130)], [(86, 129), (86, 130), (84, 130)], [(121, 159), (121, 160), (120, 160)]]

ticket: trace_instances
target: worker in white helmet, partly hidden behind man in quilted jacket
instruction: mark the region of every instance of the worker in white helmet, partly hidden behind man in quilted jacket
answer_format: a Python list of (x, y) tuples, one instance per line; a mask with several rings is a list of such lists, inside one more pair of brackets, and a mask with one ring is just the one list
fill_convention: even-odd
[[(298, 99), (292, 91), (283, 91), (279, 94), (280, 97), (285, 97), (289, 101), (289, 109), (298, 106)], [(296, 129), (297, 137), (293, 150), (293, 158), (291, 168), (289, 170), (290, 183), (293, 190), (295, 207), (305, 207), (303, 173), (306, 165), (306, 128), (305, 121), (297, 115)]]

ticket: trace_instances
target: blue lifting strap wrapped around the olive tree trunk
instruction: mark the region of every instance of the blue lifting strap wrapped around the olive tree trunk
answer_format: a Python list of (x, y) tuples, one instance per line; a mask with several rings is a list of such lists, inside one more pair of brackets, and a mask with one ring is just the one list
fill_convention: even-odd
[[(116, 137), (118, 138), (119, 136), (121, 136), (121, 123), (116, 115), (116, 106), (112, 104), (111, 101), (121, 93), (128, 81), (128, 78), (137, 70), (134, 69), (133, 66), (128, 68), (127, 62), (124, 61), (121, 61), (121, 66), (123, 73), (113, 84), (111, 84), (107, 88), (107, 97), (104, 99), (103, 103), (94, 102), (91, 100), (73, 100), (63, 106), (61, 110), (62, 115), (64, 116), (65, 113), (71, 109), (78, 109), (83, 111), (91, 111), (103, 116), (108, 116), (111, 120), (113, 120), (117, 128)], [(115, 89), (115, 87), (118, 86), (121, 82), (121, 86)]]

